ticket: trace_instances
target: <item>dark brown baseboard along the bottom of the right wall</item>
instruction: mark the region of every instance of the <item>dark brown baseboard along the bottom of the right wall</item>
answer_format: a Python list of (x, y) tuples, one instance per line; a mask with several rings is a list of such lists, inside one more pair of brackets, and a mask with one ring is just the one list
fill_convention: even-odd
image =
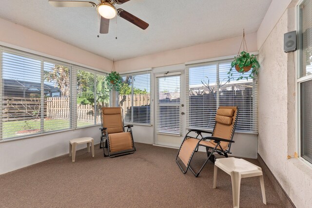
[(269, 169), (267, 164), (264, 162), (260, 154), (258, 153), (258, 158), (257, 160), (261, 164), (262, 171), (266, 173), (268, 178), (270, 179), (275, 191), (277, 192), (277, 195), (279, 196), (280, 200), (284, 203), (283, 207), (284, 208), (295, 208), (294, 204), (292, 203), (292, 200), (289, 198), (285, 190), (282, 188), (280, 183), (277, 181), (275, 176), (273, 175), (272, 171)]

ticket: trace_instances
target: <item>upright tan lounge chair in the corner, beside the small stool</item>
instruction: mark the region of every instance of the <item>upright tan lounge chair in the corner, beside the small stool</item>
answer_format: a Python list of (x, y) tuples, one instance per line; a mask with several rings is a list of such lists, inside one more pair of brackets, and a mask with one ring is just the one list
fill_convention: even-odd
[[(133, 125), (123, 125), (122, 109), (119, 107), (103, 107), (101, 109), (101, 142), (103, 144), (104, 157), (116, 157), (131, 154), (136, 151), (133, 141)], [(125, 132), (127, 127), (127, 132)], [(105, 146), (104, 146), (105, 141)], [(107, 154), (105, 153), (107, 151)]]

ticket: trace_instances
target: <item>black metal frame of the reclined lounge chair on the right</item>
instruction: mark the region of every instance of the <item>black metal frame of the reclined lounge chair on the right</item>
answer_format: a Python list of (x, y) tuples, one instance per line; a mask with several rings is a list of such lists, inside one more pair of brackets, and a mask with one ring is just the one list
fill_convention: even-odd
[[(238, 114), (239, 114), (239, 110), (238, 110), (238, 107), (236, 107), (236, 117), (235, 117), (235, 121), (234, 121), (234, 127), (233, 127), (233, 131), (231, 132), (231, 139), (224, 139), (224, 138), (219, 138), (219, 137), (214, 137), (214, 136), (207, 136), (207, 137), (203, 137), (202, 133), (211, 133), (213, 134), (215, 132), (215, 127), (216, 127), (216, 124), (217, 122), (215, 122), (215, 127), (214, 127), (214, 130), (213, 132), (208, 132), (208, 131), (203, 131), (203, 130), (196, 130), (196, 129), (190, 129), (189, 132), (187, 132), (187, 134), (185, 135), (184, 139), (183, 139), (183, 142), (179, 148), (179, 151), (177, 152), (177, 155), (176, 155), (176, 163), (177, 165), (179, 166), (179, 168), (181, 169), (181, 171), (185, 174), (187, 172), (188, 169), (190, 169), (193, 174), (195, 175), (195, 177), (198, 177), (199, 173), (201, 172), (201, 170), (203, 170), (204, 166), (207, 164), (207, 162), (209, 160), (211, 160), (213, 163), (215, 163), (215, 156), (214, 156), (214, 153), (218, 153), (220, 155), (223, 155), (225, 157), (229, 157), (228, 154), (232, 154), (232, 152), (230, 151), (231, 150), (231, 144), (234, 143), (233, 141), (233, 136), (234, 136), (234, 132), (235, 132), (235, 129), (236, 129), (236, 123), (237, 123), (237, 118), (238, 118)], [(190, 132), (196, 132), (197, 135), (196, 137), (192, 137), (192, 136), (188, 136), (188, 134)], [(198, 136), (200, 136), (201, 138), (199, 139)], [(194, 148), (193, 152), (192, 152), (192, 155), (188, 161), (188, 165), (186, 167), (185, 170), (183, 170), (183, 168), (181, 167), (181, 165), (179, 164), (178, 162), (178, 156), (179, 156), (179, 153), (180, 153), (180, 150), (181, 150), (181, 147), (183, 145), (183, 143), (185, 142), (186, 139), (188, 138), (195, 138), (195, 139), (198, 139), (198, 142), (197, 142), (197, 145), (196, 147)], [(209, 146), (206, 146), (206, 145), (203, 145), (203, 144), (200, 144), (201, 141), (205, 141), (205, 140), (214, 140), (214, 142), (216, 143), (215, 147), (209, 147)], [(223, 148), (221, 147), (220, 145), (220, 142), (223, 141), (223, 142), (229, 142), (228, 144), (228, 149), (227, 150), (223, 150)], [(206, 161), (204, 162), (204, 164), (201, 166), (200, 170), (198, 172), (195, 172), (191, 166), (190, 166), (190, 163), (191, 163), (191, 160), (194, 156), (194, 153), (198, 151), (198, 148), (200, 146), (203, 146), (203, 147), (206, 147), (206, 153), (207, 153), (207, 159)], [(220, 148), (220, 150), (218, 150), (217, 148)], [(209, 151), (210, 149), (212, 149), (212, 151)]]

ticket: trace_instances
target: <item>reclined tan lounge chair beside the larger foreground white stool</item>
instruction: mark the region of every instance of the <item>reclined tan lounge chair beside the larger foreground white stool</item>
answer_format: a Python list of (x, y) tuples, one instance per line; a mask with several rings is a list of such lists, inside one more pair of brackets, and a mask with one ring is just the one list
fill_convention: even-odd
[[(187, 170), (190, 169), (194, 173), (195, 177), (197, 177), (209, 160), (215, 163), (214, 153), (224, 155), (225, 157), (228, 157), (228, 153), (232, 153), (230, 149), (231, 143), (234, 142), (232, 139), (236, 128), (237, 117), (237, 107), (219, 107), (215, 115), (215, 128), (213, 132), (194, 129), (189, 130), (189, 132), (185, 135), (181, 147), (176, 155), (176, 163), (183, 173), (186, 173)], [(191, 132), (195, 132), (197, 134), (196, 137), (190, 136), (189, 134)], [(203, 137), (202, 133), (211, 133), (212, 135)], [(199, 136), (200, 138), (198, 138)], [(195, 173), (195, 171), (191, 168), (190, 163), (194, 153), (198, 151), (200, 146), (206, 147), (208, 158), (200, 170)], [(185, 169), (181, 167), (179, 161), (182, 161), (186, 167)]]

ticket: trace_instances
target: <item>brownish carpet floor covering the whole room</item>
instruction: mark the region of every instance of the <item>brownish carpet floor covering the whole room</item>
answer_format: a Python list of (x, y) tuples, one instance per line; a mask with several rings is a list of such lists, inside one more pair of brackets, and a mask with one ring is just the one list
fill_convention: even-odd
[[(233, 207), (231, 177), (209, 162), (198, 178), (176, 165), (176, 149), (136, 143), (137, 151), (116, 158), (77, 151), (76, 162), (62, 155), (0, 175), (0, 208), (40, 207)], [(193, 167), (204, 160), (197, 152)], [(247, 159), (259, 165), (257, 160)], [(264, 175), (267, 206), (258, 177), (241, 181), (241, 208), (283, 207)]]

